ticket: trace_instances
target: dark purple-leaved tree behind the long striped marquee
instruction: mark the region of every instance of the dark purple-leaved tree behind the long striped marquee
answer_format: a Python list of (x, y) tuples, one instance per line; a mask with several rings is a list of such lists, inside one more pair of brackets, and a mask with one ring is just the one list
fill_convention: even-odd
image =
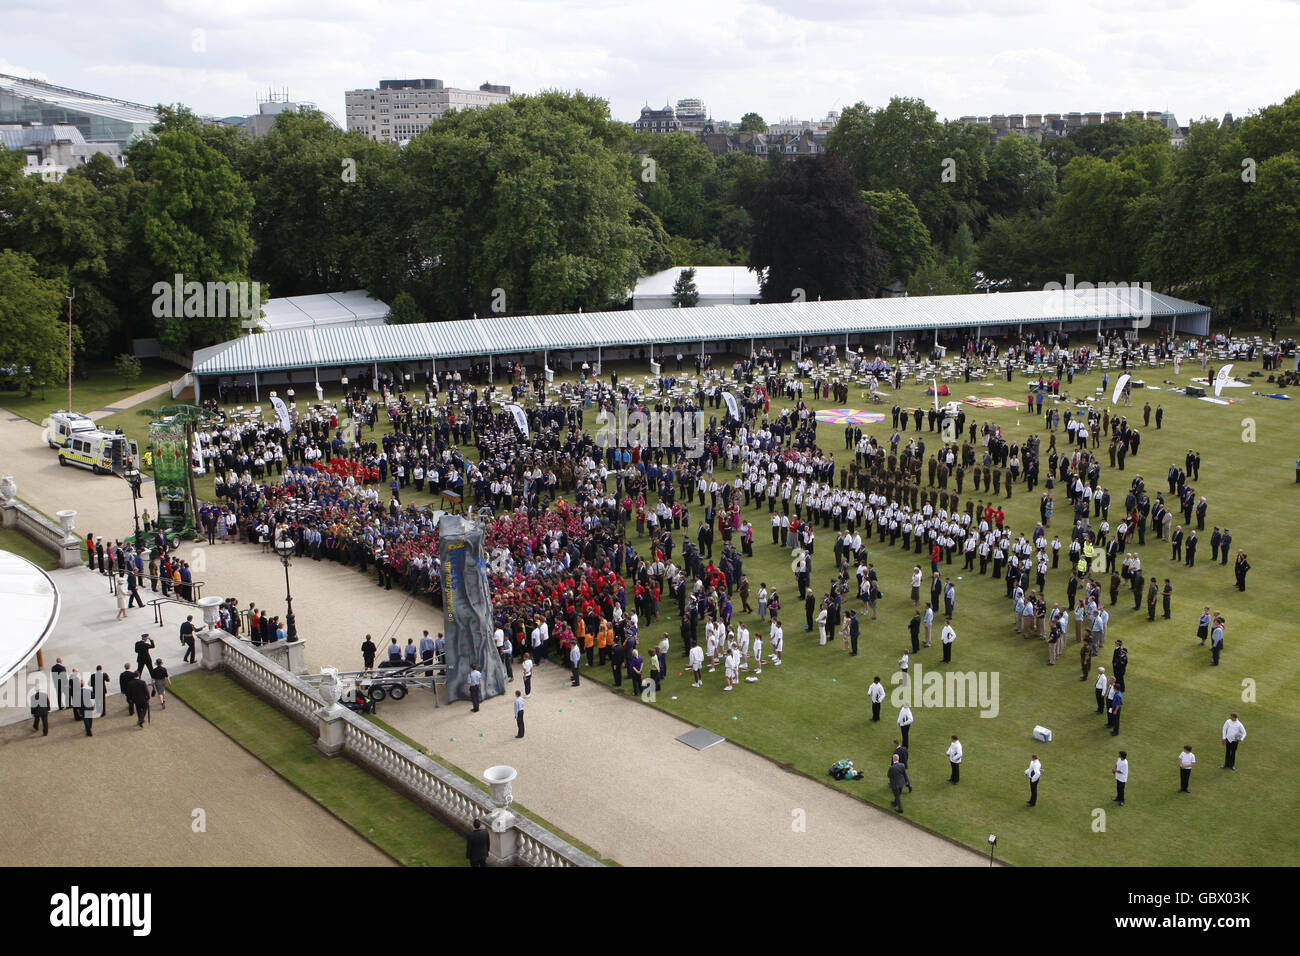
[(874, 298), (879, 291), (888, 256), (876, 237), (876, 215), (836, 157), (780, 164), (750, 215), (749, 267), (762, 276), (763, 302)]

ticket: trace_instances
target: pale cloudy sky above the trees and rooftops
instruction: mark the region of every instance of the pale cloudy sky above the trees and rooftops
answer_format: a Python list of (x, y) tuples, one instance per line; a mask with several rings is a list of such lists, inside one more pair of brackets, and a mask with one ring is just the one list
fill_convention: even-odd
[(941, 118), (1244, 116), (1300, 88), (1300, 0), (5, 0), (0, 73), (200, 114), (268, 90), (432, 77), (581, 90), (630, 122), (696, 96), (720, 120), (816, 120), (890, 96)]

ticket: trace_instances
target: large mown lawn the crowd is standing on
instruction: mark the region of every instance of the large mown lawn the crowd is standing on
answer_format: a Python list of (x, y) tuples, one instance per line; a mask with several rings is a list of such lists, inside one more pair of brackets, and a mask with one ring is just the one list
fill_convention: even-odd
[[(722, 356), (715, 358), (715, 363), (722, 362)], [(1258, 362), (1239, 362), (1235, 373), (1244, 376), (1257, 368)], [(620, 380), (644, 371), (624, 365)], [(1184, 364), (1178, 384), (1187, 384), (1193, 375), (1200, 375), (1199, 365)], [(1160, 388), (1167, 388), (1164, 382), (1174, 378), (1171, 367), (1148, 368), (1139, 377)], [(1023, 381), (1018, 378), (1010, 385), (1002, 380), (989, 385), (958, 381), (952, 385), (953, 398), (975, 394), (1020, 399)], [(1075, 376), (1067, 390), (1082, 397), (1100, 385), (1097, 372)], [(932, 399), (924, 397), (923, 389), (907, 382), (874, 410), (888, 411), (894, 401), (904, 407), (928, 407)], [(915, 792), (907, 801), (910, 819), (979, 849), (987, 847), (988, 834), (994, 832), (998, 856), (1023, 865), (1216, 866), (1290, 864), (1300, 858), (1300, 838), (1288, 823), (1288, 817), (1300, 810), (1300, 771), (1288, 753), (1290, 741), (1300, 731), (1300, 702), (1290, 691), (1300, 671), (1291, 653), (1300, 626), (1280, 601), (1300, 570), (1295, 549), (1300, 485), (1294, 480), (1300, 423), (1291, 403), (1254, 397), (1251, 390), (1227, 389), (1225, 397), (1236, 401), (1217, 406), (1164, 390), (1135, 389), (1134, 405), (1124, 412), (1141, 428), (1143, 402), (1161, 403), (1164, 428), (1156, 431), (1154, 423), (1141, 428), (1140, 453), (1128, 459), (1122, 473), (1106, 467), (1105, 442), (1100, 447), (1101, 485), (1110, 488), (1119, 507), (1135, 473), (1147, 479), (1153, 497), (1157, 490), (1167, 492), (1165, 472), (1170, 463), (1182, 463), (1188, 447), (1201, 454), (1201, 477), (1193, 485), (1209, 501), (1195, 568), (1170, 561), (1169, 546), (1154, 536), (1138, 549), (1148, 576), (1173, 579), (1173, 619), (1165, 622), (1157, 614), (1156, 622), (1148, 622), (1145, 606), (1141, 611), (1131, 610), (1127, 591), (1112, 611), (1110, 640), (1122, 639), (1130, 649), (1122, 736), (1112, 737), (1104, 718), (1093, 713), (1092, 682), (1079, 680), (1072, 630), (1061, 661), (1049, 667), (1040, 641), (1011, 633), (1011, 609), (1001, 581), (980, 579), (978, 571), (962, 572), (959, 558), (941, 568), (945, 575), (952, 574), (958, 588), (957, 643), (950, 669), (996, 672), (998, 713), (982, 718), (972, 708), (914, 706), (910, 769)], [(868, 407), (859, 390), (852, 393), (846, 405)], [(976, 423), (1000, 424), (1010, 440), (1023, 441), (1039, 433), (1046, 447), (1041, 419), (1027, 416), (1023, 406), (1022, 410), (970, 407), (967, 415)], [(148, 421), (134, 412), (114, 419), (136, 437)], [(881, 441), (892, 431), (888, 420), (863, 428)], [(822, 446), (835, 451), (837, 460), (846, 454), (842, 432), (840, 425), (819, 427)], [(911, 433), (909, 429), (905, 438)], [(936, 433), (923, 431), (923, 434), (927, 453), (937, 447)], [(1062, 433), (1058, 447), (1063, 445)], [(200, 497), (211, 496), (211, 477), (200, 479), (198, 486)], [(971, 492), (968, 484), (966, 492)], [(408, 498), (416, 503), (428, 501), (426, 496), (404, 493), (403, 499)], [(1065, 498), (1060, 488), (1056, 499), (1053, 531), (1061, 532)], [(1013, 531), (1032, 529), (1037, 492), (1027, 496), (1019, 485), (1010, 499), (998, 501)], [(893, 722), (897, 711), (887, 700), (881, 723), (872, 724), (866, 691), (875, 675), (892, 691), (896, 661), (907, 644), (906, 623), (911, 617), (907, 584), (916, 555), (875, 542), (871, 561), (880, 574), (884, 598), (879, 619), (863, 620), (861, 653), (850, 658), (838, 644), (818, 646), (815, 632), (805, 633), (802, 607), (793, 602), (797, 588), (789, 553), (771, 545), (766, 507), (762, 512), (750, 507), (746, 515), (755, 525), (755, 554), (745, 562), (745, 572), (755, 593), (760, 580), (777, 585), (783, 593), (786, 663), (780, 669), (766, 667), (758, 684), (742, 683), (732, 693), (722, 691), (720, 671), (706, 675), (705, 688), (690, 688), (688, 679), (677, 675), (684, 663), (677, 622), (663, 619), (653, 633), (655, 637), (660, 631), (670, 633), (673, 643), (670, 663), (675, 666), (670, 667), (670, 679), (651, 706), (710, 727), (828, 786), (884, 805), (889, 801), (884, 769), (897, 735)], [(1251, 555), (1253, 570), (1245, 593), (1234, 587), (1231, 566), (1209, 563), (1209, 528), (1214, 524), (1232, 529), (1234, 554), (1244, 548)], [(1067, 536), (1062, 537), (1067, 541)], [(644, 546), (646, 540), (637, 544)], [(819, 527), (812, 575), (819, 596), (831, 578), (831, 529)], [(1066, 580), (1063, 568), (1048, 574), (1049, 604), (1063, 602)], [(1104, 594), (1106, 584), (1104, 580)], [(1227, 617), (1226, 650), (1219, 667), (1210, 666), (1209, 649), (1201, 648), (1193, 636), (1204, 605)], [(755, 617), (749, 620), (751, 627), (757, 624)], [(914, 666), (919, 662), (922, 670), (931, 666), (944, 670), (939, 663), (937, 630), (936, 626), (936, 646), (914, 656)], [(1109, 648), (1096, 663), (1110, 670)], [(607, 670), (598, 670), (594, 676), (611, 680)], [(629, 701), (629, 706), (644, 705)], [(1240, 713), (1249, 731), (1235, 774), (1219, 770), (1216, 762), (1222, 758), (1219, 727), (1231, 710)], [(1050, 727), (1053, 743), (1034, 741), (1035, 724)], [(950, 734), (959, 735), (966, 748), (958, 787), (945, 782), (944, 750)], [(1191, 795), (1176, 792), (1175, 757), (1183, 744), (1192, 744), (1199, 757)], [(1131, 763), (1124, 808), (1110, 801), (1114, 795), (1110, 767), (1121, 747), (1128, 750)], [(1031, 752), (1039, 753), (1044, 767), (1039, 805), (1032, 809), (1024, 805), (1028, 787), (1022, 775)], [(833, 783), (826, 771), (840, 757), (853, 758), (867, 771), (866, 779)]]

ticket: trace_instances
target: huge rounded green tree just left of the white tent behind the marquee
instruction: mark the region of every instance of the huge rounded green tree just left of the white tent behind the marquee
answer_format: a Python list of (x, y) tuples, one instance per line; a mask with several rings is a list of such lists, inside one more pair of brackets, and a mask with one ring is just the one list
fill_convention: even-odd
[(603, 100), (516, 96), (452, 112), (400, 153), (408, 289), (430, 319), (599, 310), (662, 254), (633, 225), (633, 181)]

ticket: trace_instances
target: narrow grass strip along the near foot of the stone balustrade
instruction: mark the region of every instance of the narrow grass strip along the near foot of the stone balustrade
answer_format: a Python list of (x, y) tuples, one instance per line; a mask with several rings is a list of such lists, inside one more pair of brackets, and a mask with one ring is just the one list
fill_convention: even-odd
[(404, 866), (464, 866), (465, 838), (360, 766), (329, 758), (281, 711), (221, 674), (173, 678), (173, 692), (283, 779)]

